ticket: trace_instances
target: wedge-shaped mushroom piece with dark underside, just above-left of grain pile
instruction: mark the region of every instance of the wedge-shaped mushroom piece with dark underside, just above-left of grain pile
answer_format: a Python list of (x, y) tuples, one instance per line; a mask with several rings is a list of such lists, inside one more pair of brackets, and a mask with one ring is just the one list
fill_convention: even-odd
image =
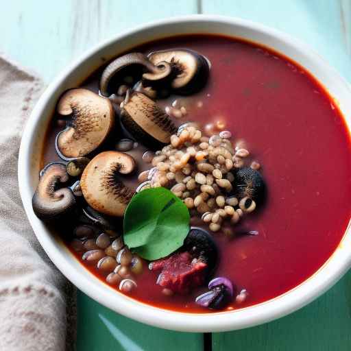
[(177, 128), (155, 101), (141, 93), (132, 93), (121, 110), (124, 128), (144, 145), (158, 149), (171, 141)]

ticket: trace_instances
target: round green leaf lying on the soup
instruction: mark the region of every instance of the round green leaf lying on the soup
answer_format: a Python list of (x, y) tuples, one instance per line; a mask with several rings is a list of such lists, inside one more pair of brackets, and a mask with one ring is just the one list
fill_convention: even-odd
[(157, 260), (183, 245), (189, 232), (189, 210), (165, 188), (145, 189), (125, 210), (124, 242), (139, 256)]

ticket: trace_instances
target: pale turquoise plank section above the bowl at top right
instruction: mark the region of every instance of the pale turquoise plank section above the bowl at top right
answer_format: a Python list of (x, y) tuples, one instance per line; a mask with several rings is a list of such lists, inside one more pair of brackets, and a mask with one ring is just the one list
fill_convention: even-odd
[(202, 13), (249, 19), (300, 38), (351, 82), (350, 0), (202, 0)]

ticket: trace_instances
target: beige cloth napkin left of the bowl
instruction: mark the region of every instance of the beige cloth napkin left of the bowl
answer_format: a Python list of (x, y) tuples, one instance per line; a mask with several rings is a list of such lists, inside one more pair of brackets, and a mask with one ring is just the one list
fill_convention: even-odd
[(36, 241), (17, 181), (21, 132), (42, 90), (38, 78), (0, 56), (1, 351), (75, 349), (75, 291)]

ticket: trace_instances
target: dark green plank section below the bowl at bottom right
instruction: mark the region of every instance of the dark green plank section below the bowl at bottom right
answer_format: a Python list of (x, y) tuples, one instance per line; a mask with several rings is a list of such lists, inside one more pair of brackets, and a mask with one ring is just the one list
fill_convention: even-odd
[(274, 322), (213, 333), (213, 351), (349, 351), (351, 274), (312, 304)]

